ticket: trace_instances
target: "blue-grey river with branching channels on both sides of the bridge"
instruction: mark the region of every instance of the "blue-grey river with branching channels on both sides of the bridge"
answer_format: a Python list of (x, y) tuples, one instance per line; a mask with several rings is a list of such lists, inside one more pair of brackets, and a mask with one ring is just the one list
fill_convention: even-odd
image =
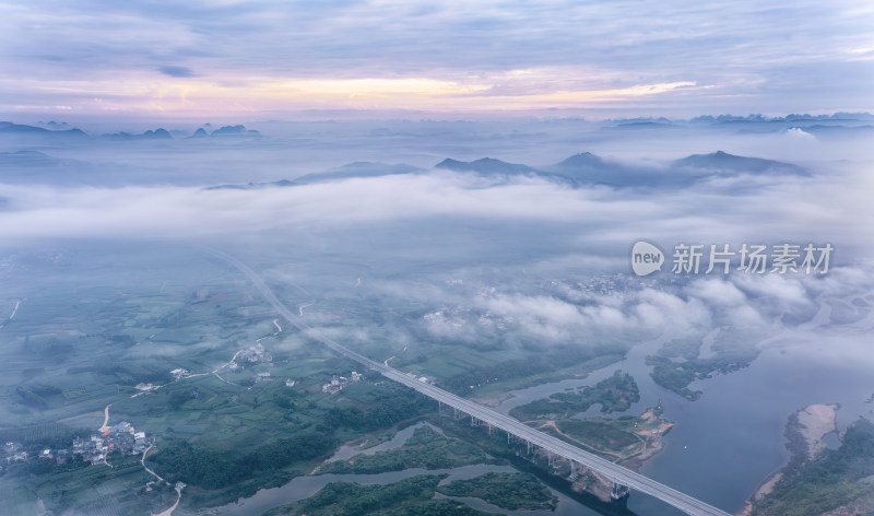
[[(787, 462), (789, 454), (784, 447), (783, 431), (792, 412), (812, 403), (839, 402), (840, 430), (860, 415), (871, 418), (874, 406), (865, 403), (865, 400), (874, 392), (874, 379), (867, 364), (870, 360), (860, 360), (870, 356), (870, 352), (866, 344), (860, 344), (855, 338), (870, 331), (871, 327), (872, 318), (847, 328), (831, 325), (828, 312), (820, 310), (799, 331), (764, 339), (760, 342), (764, 351), (749, 367), (692, 385), (692, 388), (704, 391), (696, 401), (656, 385), (649, 376), (645, 359), (673, 338), (666, 333), (635, 347), (625, 360), (598, 370), (586, 378), (515, 390), (510, 392), (512, 397), (496, 410), (507, 413), (513, 407), (553, 392), (593, 385), (610, 377), (616, 370), (628, 372), (638, 384), (640, 401), (624, 414), (639, 414), (661, 400), (664, 415), (677, 423), (664, 437), (665, 448), (646, 462), (641, 472), (723, 511), (736, 513), (758, 483)], [(721, 329), (714, 329), (707, 335), (704, 353), (711, 353), (710, 344), (719, 331)], [(587, 415), (595, 415), (599, 410), (600, 407), (595, 406)], [(413, 430), (405, 429), (389, 442), (364, 453), (400, 446)], [(333, 459), (349, 458), (355, 453), (362, 450), (344, 446)], [(339, 480), (385, 483), (415, 474), (448, 473), (448, 481), (451, 481), (488, 471), (513, 471), (513, 468), (479, 465), (433, 471), (406, 469), (380, 474), (300, 477), (283, 486), (261, 490), (239, 504), (225, 505), (218, 514), (253, 516), (273, 506), (307, 497), (327, 483)], [(557, 515), (597, 514), (565, 495), (556, 494), (559, 496)], [(504, 511), (476, 500), (464, 499), (464, 502), (475, 508), (504, 514), (548, 514)], [(640, 493), (631, 493), (628, 508), (640, 516), (683, 514)]]

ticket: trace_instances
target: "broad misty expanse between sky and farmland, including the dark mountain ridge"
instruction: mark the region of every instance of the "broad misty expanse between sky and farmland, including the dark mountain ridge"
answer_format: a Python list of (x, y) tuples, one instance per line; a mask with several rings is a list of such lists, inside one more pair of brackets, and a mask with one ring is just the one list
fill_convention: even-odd
[[(130, 246), (224, 249), (351, 341), (624, 345), (713, 327), (764, 340), (824, 307), (870, 320), (862, 122), (840, 139), (788, 121), (251, 126), (260, 132), (233, 138), (3, 140), (7, 262), (40, 246), (86, 255), (83, 241), (117, 244), (121, 262)], [(639, 239), (665, 251), (661, 272), (631, 274)], [(675, 274), (678, 243), (835, 251), (827, 274)]]

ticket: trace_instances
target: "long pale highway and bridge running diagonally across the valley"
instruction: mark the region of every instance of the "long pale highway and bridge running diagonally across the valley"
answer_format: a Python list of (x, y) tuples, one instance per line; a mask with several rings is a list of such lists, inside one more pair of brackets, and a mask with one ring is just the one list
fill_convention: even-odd
[(264, 298), (271, 305), (273, 305), (276, 312), (279, 312), (279, 314), (290, 324), (295, 326), (300, 331), (307, 332), (309, 337), (318, 340), (333, 351), (367, 367), (370, 367), (371, 370), (378, 371), (387, 378), (393, 379), (394, 382), (413, 388), (432, 399), (458, 409), (483, 423), (492, 425), (493, 427), (500, 429), (508, 434), (512, 434), (516, 437), (522, 438), (555, 455), (582, 465), (618, 484), (626, 485), (633, 490), (654, 496), (670, 505), (673, 505), (686, 514), (693, 516), (730, 516), (729, 513), (708, 505), (700, 500), (681, 493), (675, 489), (669, 488), (668, 485), (664, 485), (622, 466), (615, 465), (594, 454), (580, 449), (569, 443), (565, 443), (559, 438), (553, 437), (552, 435), (534, 430), (512, 418), (498, 413), (487, 407), (483, 407), (480, 403), (456, 396), (451, 392), (440, 389), (439, 387), (420, 382), (418, 379), (408, 376), (398, 370), (389, 367), (387, 364), (370, 360), (367, 356), (356, 353), (333, 341), (332, 339), (329, 339), (328, 337), (311, 331), (311, 328), (299, 317), (293, 314), (288, 308), (286, 308), (285, 305), (273, 294), (273, 291), (268, 288), (261, 277), (258, 275), (258, 273), (256, 273), (246, 263), (229, 255), (225, 255), (224, 253), (215, 250), (211, 250), (211, 253), (232, 263), (244, 274), (246, 274), (246, 277), (252, 282), (261, 295), (263, 295)]

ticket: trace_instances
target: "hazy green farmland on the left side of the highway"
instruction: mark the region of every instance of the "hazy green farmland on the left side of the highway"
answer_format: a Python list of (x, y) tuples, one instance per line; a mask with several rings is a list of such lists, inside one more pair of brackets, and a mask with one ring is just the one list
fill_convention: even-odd
[[(137, 269), (137, 258), (121, 267), (88, 254), (63, 270), (52, 263), (10, 282), (4, 295), (21, 306), (0, 332), (4, 443), (20, 443), (29, 457), (70, 448), (74, 436), (87, 438), (103, 424), (111, 403), (108, 423), (128, 421), (155, 438), (147, 464), (188, 483), (182, 506), (197, 508), (286, 482), (341, 443), (429, 410), (415, 394), (381, 382), (322, 392), (332, 376), (361, 367), (287, 325), (279, 332), (272, 308), (223, 263), (147, 253), (140, 259)], [(272, 360), (223, 367), (258, 342)], [(197, 376), (175, 380), (176, 368)], [(271, 378), (256, 382), (256, 373)], [(286, 378), (297, 384), (286, 387)], [(140, 383), (160, 388), (134, 396)], [(193, 461), (175, 460), (181, 449)], [(0, 513), (29, 514), (37, 499), (56, 514), (160, 513), (175, 492), (153, 486), (145, 494), (154, 478), (139, 460), (114, 456), (113, 468), (13, 464), (0, 471)]]

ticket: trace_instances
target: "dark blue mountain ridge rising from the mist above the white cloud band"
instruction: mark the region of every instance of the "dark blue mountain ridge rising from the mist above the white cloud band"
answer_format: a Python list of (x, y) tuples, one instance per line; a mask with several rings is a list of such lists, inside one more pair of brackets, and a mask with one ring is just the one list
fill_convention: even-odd
[[(722, 151), (711, 154), (694, 154), (676, 160), (666, 168), (630, 166), (604, 160), (595, 154), (575, 154), (554, 165), (533, 167), (520, 163), (507, 163), (492, 157), (462, 162), (446, 159), (434, 166), (430, 173), (451, 171), (458, 174), (474, 174), (488, 179), (489, 184), (507, 183), (519, 177), (541, 178), (570, 187), (604, 185), (614, 188), (684, 188), (711, 178), (749, 176), (810, 176), (804, 168), (759, 157), (736, 156)], [(218, 185), (206, 189), (257, 189), (292, 187), (319, 183), (334, 183), (353, 178), (371, 178), (405, 174), (427, 174), (429, 171), (406, 164), (356, 162), (333, 171), (307, 174), (295, 179), (247, 185)]]

